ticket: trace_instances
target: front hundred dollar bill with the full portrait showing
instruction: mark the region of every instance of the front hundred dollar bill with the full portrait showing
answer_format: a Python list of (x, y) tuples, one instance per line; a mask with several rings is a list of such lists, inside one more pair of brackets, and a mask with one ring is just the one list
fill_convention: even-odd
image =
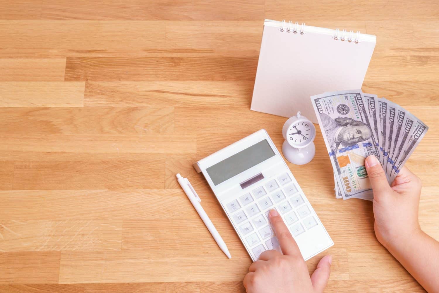
[(343, 199), (371, 195), (364, 160), (379, 157), (362, 94), (345, 90), (311, 97)]

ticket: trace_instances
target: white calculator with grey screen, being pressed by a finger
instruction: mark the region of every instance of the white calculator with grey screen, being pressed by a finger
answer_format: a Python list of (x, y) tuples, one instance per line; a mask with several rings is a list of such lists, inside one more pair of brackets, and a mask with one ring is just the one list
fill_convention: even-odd
[(316, 212), (261, 129), (194, 164), (202, 172), (253, 261), (279, 250), (268, 221), (276, 208), (305, 260), (334, 245)]

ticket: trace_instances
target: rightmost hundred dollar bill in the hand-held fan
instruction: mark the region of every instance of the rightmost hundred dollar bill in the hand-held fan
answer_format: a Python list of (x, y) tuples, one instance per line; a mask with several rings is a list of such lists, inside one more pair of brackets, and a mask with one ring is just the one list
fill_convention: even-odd
[(393, 181), (398, 175), (399, 170), (401, 170), (402, 166), (404, 166), (407, 159), (427, 133), (427, 130), (428, 126), (425, 125), (425, 123), (423, 123), (421, 120), (415, 118), (413, 126), (410, 130), (410, 134), (408, 135), (407, 140), (402, 147), (402, 152), (398, 156), (398, 159), (396, 159), (395, 164), (392, 166), (392, 173), (390, 175), (391, 181)]

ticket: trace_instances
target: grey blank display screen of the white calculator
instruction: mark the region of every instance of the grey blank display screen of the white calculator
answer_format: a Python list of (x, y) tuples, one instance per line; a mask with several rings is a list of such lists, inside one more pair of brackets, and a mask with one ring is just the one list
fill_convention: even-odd
[(241, 172), (273, 157), (275, 154), (266, 139), (242, 150), (206, 169), (213, 184), (218, 185)]

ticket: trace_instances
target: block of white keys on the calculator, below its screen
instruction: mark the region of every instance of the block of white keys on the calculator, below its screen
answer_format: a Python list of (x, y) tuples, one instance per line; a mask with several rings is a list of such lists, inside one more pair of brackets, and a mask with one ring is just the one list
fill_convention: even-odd
[(224, 203), (254, 259), (258, 259), (265, 250), (281, 251), (268, 221), (271, 209), (279, 211), (294, 237), (318, 225), (317, 216), (296, 184), (290, 174), (279, 174), (266, 178), (265, 182), (237, 199)]

